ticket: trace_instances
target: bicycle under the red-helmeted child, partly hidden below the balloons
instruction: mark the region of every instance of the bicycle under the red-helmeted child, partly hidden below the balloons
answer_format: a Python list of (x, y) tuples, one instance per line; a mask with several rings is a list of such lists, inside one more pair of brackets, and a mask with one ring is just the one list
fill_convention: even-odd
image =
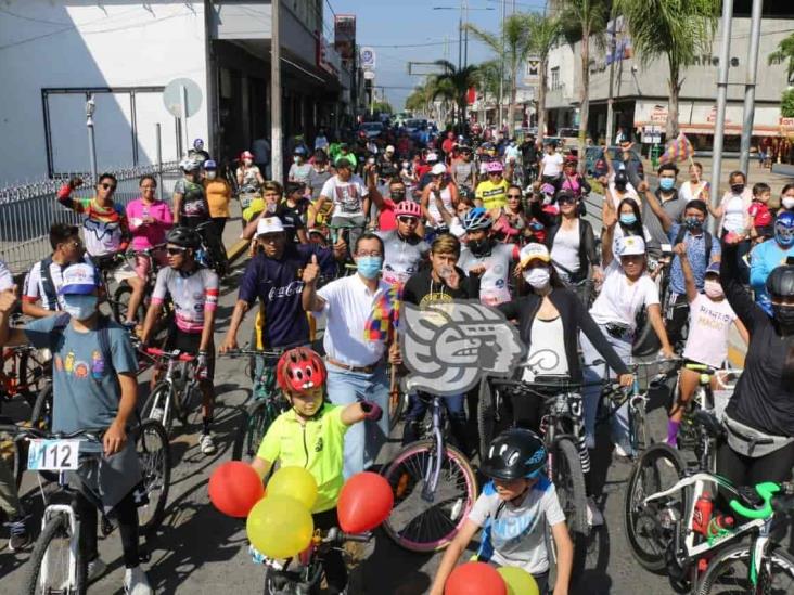
[[(346, 541), (367, 543), (372, 539), (372, 533), (345, 533), (332, 527), (323, 535), (317, 529), (311, 538), (309, 546), (295, 558), (284, 564), (262, 556), (251, 548), (254, 561), (265, 565), (265, 595), (308, 595), (320, 586), (323, 577), (323, 555), (333, 547), (341, 546)], [(287, 567), (295, 562), (294, 570)]]

